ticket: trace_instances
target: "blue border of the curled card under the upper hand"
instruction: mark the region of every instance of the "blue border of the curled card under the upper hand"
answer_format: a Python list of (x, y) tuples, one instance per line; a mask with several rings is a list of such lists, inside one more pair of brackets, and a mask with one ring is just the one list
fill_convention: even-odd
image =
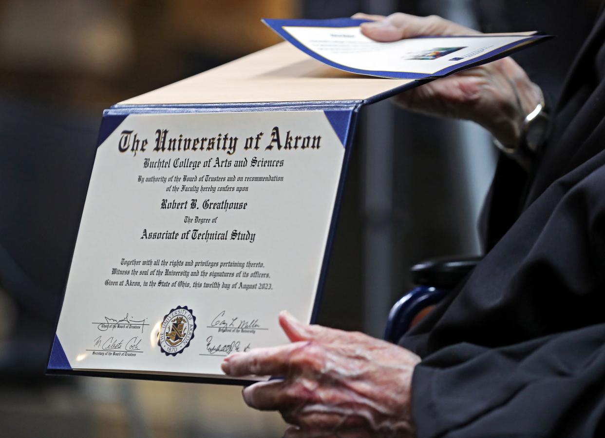
[[(506, 51), (506, 56), (510, 55), (513, 51), (519, 50), (522, 47), (525, 47), (525, 43), (530, 41), (546, 41), (546, 39), (552, 38), (551, 35), (531, 35), (527, 38), (520, 39), (516, 42), (511, 42), (510, 44), (506, 44), (503, 47), (496, 48), (488, 53), (485, 53), (482, 56), (477, 58), (469, 59), (465, 62), (460, 62), (459, 64), (451, 65), (450, 67), (443, 68), (443, 70), (437, 71), (436, 73), (412, 73), (411, 71), (381, 71), (381, 70), (362, 70), (361, 68), (353, 68), (348, 67), (347, 65), (338, 64), (337, 62), (330, 61), (330, 59), (324, 58), (319, 55), (310, 48), (306, 47), (306, 45), (301, 44), (298, 39), (294, 38), (290, 33), (284, 30), (284, 26), (301, 26), (301, 27), (356, 27), (359, 26), (362, 22), (370, 21), (370, 20), (359, 20), (353, 18), (333, 18), (327, 20), (313, 20), (313, 19), (269, 19), (263, 18), (262, 20), (264, 24), (266, 24), (269, 28), (271, 28), (275, 33), (281, 36), (281, 38), (290, 42), (293, 46), (298, 48), (299, 50), (304, 51), (312, 58), (317, 59), (318, 61), (323, 62), (324, 64), (330, 65), (330, 67), (338, 68), (339, 70), (349, 71), (350, 73), (358, 73), (359, 75), (373, 75), (373, 76), (381, 76), (383, 78), (391, 78), (391, 79), (428, 79), (428, 78), (439, 78), (441, 76), (450, 75), (451, 73), (455, 73), (458, 70), (461, 70), (464, 67), (468, 67), (469, 65), (474, 64), (482, 64), (483, 62), (487, 62), (488, 59), (502, 56)], [(482, 35), (439, 35), (439, 36), (422, 36), (419, 38), (477, 38)], [(486, 35), (485, 38), (489, 37)]]

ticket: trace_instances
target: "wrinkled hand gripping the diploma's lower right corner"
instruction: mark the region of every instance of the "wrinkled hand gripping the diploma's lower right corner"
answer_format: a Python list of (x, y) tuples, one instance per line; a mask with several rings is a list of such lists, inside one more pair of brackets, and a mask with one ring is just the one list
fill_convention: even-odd
[(415, 436), (416, 354), (362, 333), (302, 324), (287, 312), (280, 324), (292, 343), (232, 354), (222, 368), (229, 376), (284, 376), (243, 391), (247, 405), (281, 412), (292, 425), (284, 437)]

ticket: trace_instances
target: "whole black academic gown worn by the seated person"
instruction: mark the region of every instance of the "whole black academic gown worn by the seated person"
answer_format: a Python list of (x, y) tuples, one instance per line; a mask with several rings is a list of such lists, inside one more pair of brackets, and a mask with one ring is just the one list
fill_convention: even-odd
[(533, 174), (500, 160), (485, 214), (491, 250), (400, 341), (422, 357), (419, 438), (605, 437), (602, 14), (553, 127)]

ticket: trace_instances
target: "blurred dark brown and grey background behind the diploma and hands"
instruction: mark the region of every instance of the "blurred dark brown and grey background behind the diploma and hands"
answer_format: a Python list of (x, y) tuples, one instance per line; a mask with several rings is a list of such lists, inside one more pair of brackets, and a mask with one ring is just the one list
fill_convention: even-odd
[[(248, 410), (237, 387), (44, 375), (103, 108), (279, 42), (261, 17), (397, 11), (484, 32), (557, 35), (515, 56), (555, 102), (598, 3), (0, 0), (2, 437), (266, 438), (284, 430), (278, 414)], [(473, 124), (389, 102), (364, 108), (320, 324), (381, 336), (389, 308), (410, 288), (411, 265), (480, 254), (477, 214), (496, 159)]]

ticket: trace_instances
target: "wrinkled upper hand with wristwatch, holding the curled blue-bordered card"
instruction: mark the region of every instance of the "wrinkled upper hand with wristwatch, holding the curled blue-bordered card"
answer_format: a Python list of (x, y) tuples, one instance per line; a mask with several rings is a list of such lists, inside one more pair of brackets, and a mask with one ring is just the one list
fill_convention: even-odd
[[(353, 18), (373, 20), (363, 23), (361, 32), (383, 42), (422, 35), (479, 33), (434, 15), (394, 13), (384, 17), (359, 13)], [(395, 101), (422, 113), (472, 120), (491, 131), (502, 144), (515, 145), (523, 120), (543, 102), (543, 96), (523, 68), (511, 58), (503, 58), (405, 91)]]

